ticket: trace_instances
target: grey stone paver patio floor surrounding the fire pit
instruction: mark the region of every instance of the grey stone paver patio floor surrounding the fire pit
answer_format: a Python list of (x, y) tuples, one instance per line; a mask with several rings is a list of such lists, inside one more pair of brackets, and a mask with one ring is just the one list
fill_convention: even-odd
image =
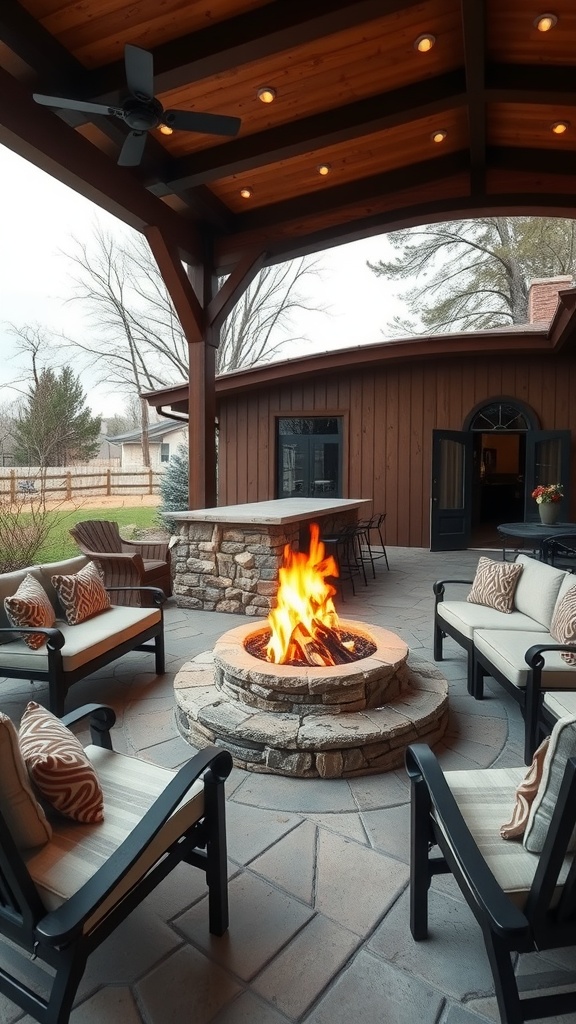
[[(346, 618), (397, 632), (433, 662), (435, 580), (471, 579), (479, 552), (390, 548), (389, 572), (339, 605)], [(494, 553), (494, 557), (500, 557)], [(78, 683), (67, 710), (108, 702), (115, 745), (177, 767), (191, 755), (174, 720), (180, 666), (239, 617), (166, 607), (167, 668), (133, 652)], [(494, 685), (466, 693), (451, 641), (442, 671), (450, 723), (437, 748), (450, 768), (522, 764), (518, 706)], [(2, 680), (14, 721), (46, 688)], [(480, 930), (449, 878), (435, 882), (430, 938), (408, 928), (408, 783), (404, 769), (354, 779), (292, 779), (234, 769), (228, 785), (231, 926), (208, 932), (201, 872), (180, 865), (95, 951), (73, 1024), (482, 1024), (498, 1021)], [(8, 955), (0, 950), (0, 965)], [(576, 952), (524, 956), (527, 987), (574, 980)], [(31, 971), (34, 970), (31, 965)], [(557, 1018), (572, 1024), (576, 1015)], [(23, 1014), (0, 995), (0, 1024)]]

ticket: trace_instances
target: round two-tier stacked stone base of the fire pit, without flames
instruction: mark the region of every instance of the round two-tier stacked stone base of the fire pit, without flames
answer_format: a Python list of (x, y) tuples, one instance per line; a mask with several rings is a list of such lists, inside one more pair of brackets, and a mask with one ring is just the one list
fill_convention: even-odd
[[(231, 633), (236, 640), (234, 634), (239, 631)], [(403, 765), (409, 743), (433, 745), (446, 731), (448, 684), (435, 667), (412, 658), (407, 663), (407, 651), (397, 651), (400, 657), (394, 672), (378, 652), (356, 663), (355, 681), (346, 686), (344, 672), (341, 687), (334, 686), (335, 670), (324, 670), (322, 678), (318, 670), (302, 669), (297, 670), (300, 675), (291, 688), (287, 686), (288, 667), (269, 667), (251, 658), (254, 678), (238, 685), (227, 680), (229, 673), (222, 667), (222, 657), (228, 664), (230, 649), (235, 647), (230, 637), (222, 637), (214, 651), (182, 666), (174, 688), (177, 724), (184, 738), (197, 748), (223, 746), (237, 767), (298, 778), (376, 774)], [(398, 637), (395, 640), (405, 648)], [(222, 654), (222, 645), (228, 655)], [(377, 681), (378, 658), (387, 683)], [(286, 670), (280, 673), (274, 696), (269, 668)], [(359, 676), (365, 677), (364, 686)], [(384, 690), (386, 702), (380, 705)]]

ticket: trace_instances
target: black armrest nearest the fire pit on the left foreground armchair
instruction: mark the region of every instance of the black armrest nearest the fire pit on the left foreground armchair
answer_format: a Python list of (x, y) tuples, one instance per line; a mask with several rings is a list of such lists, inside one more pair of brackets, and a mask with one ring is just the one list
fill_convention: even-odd
[[(221, 748), (207, 746), (176, 772), (135, 828), (85, 885), (37, 925), (46, 942), (71, 941), (122, 879), (131, 870), (196, 780), (209, 770), (206, 782), (223, 783), (232, 771), (232, 757)], [(210, 777), (208, 777), (210, 776)]]

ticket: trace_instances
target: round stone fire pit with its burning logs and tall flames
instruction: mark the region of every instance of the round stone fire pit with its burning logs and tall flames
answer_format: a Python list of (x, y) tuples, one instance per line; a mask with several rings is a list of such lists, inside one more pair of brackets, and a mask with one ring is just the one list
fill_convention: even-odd
[(408, 663), (396, 634), (339, 621), (318, 530), (311, 551), (285, 551), (278, 606), (268, 622), (225, 633), (176, 676), (180, 731), (217, 742), (251, 771), (349, 777), (398, 768), (408, 743), (438, 741), (448, 685)]

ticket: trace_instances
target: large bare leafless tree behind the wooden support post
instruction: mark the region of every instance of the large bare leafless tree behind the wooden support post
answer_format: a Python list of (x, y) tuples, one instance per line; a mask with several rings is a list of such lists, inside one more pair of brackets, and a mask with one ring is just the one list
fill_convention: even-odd
[[(143, 236), (118, 240), (96, 226), (92, 244), (74, 239), (65, 255), (74, 266), (71, 301), (82, 303), (90, 325), (85, 338), (66, 341), (82, 350), (99, 380), (137, 395), (187, 381), (188, 342)], [(306, 258), (260, 271), (222, 328), (217, 372), (252, 366), (293, 340), (292, 315), (318, 308), (307, 304), (301, 286), (319, 272)], [(150, 465), (143, 399), (140, 426)]]

